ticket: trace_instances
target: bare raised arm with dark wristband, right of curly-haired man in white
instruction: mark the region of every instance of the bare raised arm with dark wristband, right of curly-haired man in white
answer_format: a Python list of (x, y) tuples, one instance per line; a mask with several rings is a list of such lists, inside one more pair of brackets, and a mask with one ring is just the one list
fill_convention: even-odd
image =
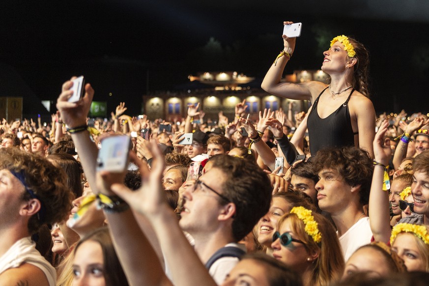
[[(375, 241), (387, 243), (390, 239), (390, 210), (389, 193), (383, 191), (383, 180), (385, 167), (389, 165), (392, 150), (390, 140), (384, 139), (389, 123), (384, 120), (378, 129), (373, 142), (374, 148), (374, 173), (372, 174), (372, 184), (369, 202), (370, 225)], [(380, 164), (380, 165), (378, 165)]]

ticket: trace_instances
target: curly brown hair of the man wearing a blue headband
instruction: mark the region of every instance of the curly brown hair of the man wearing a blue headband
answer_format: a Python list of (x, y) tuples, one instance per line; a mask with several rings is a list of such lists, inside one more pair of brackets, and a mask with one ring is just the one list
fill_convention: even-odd
[[(17, 148), (0, 149), (0, 169), (23, 175), (28, 189), (32, 190), (43, 208), (40, 219), (34, 214), (29, 219), (29, 233), (33, 234), (43, 224), (54, 224), (64, 220), (72, 207), (73, 194), (66, 187), (65, 172), (45, 158), (21, 151)], [(30, 200), (29, 192), (23, 200)]]

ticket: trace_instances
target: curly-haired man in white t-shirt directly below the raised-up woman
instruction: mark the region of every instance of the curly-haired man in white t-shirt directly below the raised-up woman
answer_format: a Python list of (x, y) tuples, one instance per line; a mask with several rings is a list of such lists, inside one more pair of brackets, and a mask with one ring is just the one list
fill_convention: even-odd
[(328, 212), (337, 228), (344, 260), (372, 239), (368, 204), (373, 165), (368, 153), (357, 147), (321, 149), (314, 170), (319, 208)]

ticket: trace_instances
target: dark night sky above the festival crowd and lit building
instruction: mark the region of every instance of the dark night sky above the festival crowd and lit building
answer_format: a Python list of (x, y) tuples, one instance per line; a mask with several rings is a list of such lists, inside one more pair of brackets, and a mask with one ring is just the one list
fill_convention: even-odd
[(85, 75), (95, 100), (109, 110), (125, 101), (138, 114), (143, 94), (189, 74), (262, 78), (282, 49), (282, 22), (291, 20), (303, 30), (286, 73), (318, 69), (332, 37), (352, 35), (371, 54), (376, 111), (428, 112), (427, 0), (10, 2), (0, 4), (0, 64), (41, 99), (55, 100), (65, 80)]

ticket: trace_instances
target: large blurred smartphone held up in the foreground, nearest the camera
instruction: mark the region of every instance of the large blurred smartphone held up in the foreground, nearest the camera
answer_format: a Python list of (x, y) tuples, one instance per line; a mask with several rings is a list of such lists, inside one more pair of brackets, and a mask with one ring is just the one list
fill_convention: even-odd
[(111, 136), (101, 141), (98, 151), (97, 172), (123, 172), (128, 166), (131, 139), (127, 135)]

